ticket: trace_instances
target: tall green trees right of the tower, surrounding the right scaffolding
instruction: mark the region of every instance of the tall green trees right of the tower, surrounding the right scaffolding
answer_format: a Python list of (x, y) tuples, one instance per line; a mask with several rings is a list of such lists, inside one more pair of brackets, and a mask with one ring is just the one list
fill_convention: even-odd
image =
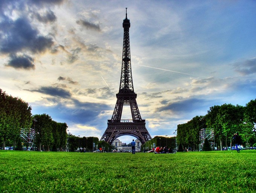
[(218, 150), (229, 147), (232, 136), (239, 132), (245, 147), (256, 146), (256, 99), (246, 106), (223, 104), (210, 107), (204, 116), (177, 126), (177, 143), (179, 146), (198, 150), (201, 129), (214, 129), (215, 144)]

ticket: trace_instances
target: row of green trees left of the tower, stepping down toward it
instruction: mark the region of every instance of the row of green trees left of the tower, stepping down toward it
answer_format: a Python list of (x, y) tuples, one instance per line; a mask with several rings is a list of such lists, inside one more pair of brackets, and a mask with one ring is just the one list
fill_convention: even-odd
[(23, 150), (21, 128), (35, 130), (35, 147), (38, 151), (76, 151), (78, 147), (87, 151), (112, 146), (96, 137), (77, 137), (67, 133), (66, 123), (58, 123), (47, 114), (32, 115), (32, 107), (18, 97), (12, 97), (0, 89), (0, 143), (2, 149), (13, 147)]

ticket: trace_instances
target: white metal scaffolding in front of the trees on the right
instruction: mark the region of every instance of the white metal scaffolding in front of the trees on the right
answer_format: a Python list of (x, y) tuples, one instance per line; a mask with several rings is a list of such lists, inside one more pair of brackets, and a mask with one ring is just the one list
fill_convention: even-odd
[(208, 139), (210, 147), (212, 150), (215, 150), (215, 139), (214, 139), (214, 130), (213, 129), (201, 129), (200, 131), (200, 144), (199, 144), (199, 151), (203, 150), (204, 147), (204, 140)]

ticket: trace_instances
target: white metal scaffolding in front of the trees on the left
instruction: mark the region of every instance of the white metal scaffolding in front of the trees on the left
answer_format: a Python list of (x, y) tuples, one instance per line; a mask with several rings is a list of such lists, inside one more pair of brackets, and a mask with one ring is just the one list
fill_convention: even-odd
[(35, 150), (35, 130), (25, 128), (20, 130), (20, 138), (23, 149)]

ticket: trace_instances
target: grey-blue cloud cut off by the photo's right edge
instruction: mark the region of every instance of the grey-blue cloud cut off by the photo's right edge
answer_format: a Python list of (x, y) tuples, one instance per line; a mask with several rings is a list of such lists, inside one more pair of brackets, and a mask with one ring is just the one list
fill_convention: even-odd
[(244, 76), (254, 74), (256, 73), (256, 58), (245, 60), (241, 63), (236, 63), (234, 64), (234, 68), (236, 72)]

